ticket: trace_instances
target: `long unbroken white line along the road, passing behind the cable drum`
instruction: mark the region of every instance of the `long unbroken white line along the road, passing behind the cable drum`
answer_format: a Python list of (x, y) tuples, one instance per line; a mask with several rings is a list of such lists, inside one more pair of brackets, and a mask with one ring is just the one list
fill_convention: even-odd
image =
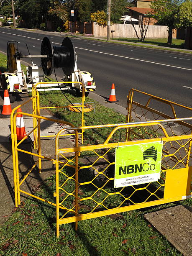
[[(1, 31), (0, 31), (0, 33), (5, 33), (5, 34), (9, 34), (9, 35), (14, 35), (14, 36), (21, 36), (21, 35), (12, 34), (12, 33), (1, 32)], [(35, 40), (42, 41), (41, 39), (37, 39), (37, 38), (33, 38), (33, 37), (28, 37), (28, 36), (21, 36), (21, 37), (26, 37), (26, 38), (30, 38), (30, 39), (35, 39)], [(53, 44), (58, 44), (58, 43), (54, 43), (54, 42), (52, 42), (52, 43), (53, 43)], [(61, 44), (59, 44), (59, 45), (61, 45)], [(75, 48), (81, 49), (81, 50), (85, 50), (85, 51), (93, 51), (93, 50), (84, 49), (84, 48), (79, 48), (79, 47), (75, 47)], [(166, 66), (166, 67), (174, 67), (174, 68), (177, 68), (177, 69), (185, 69), (185, 70), (191, 70), (191, 71), (192, 71), (192, 69), (186, 69), (186, 68), (183, 68), (183, 67), (177, 67), (177, 66), (162, 64), (162, 63), (153, 62), (153, 61), (146, 61), (146, 60), (143, 60), (143, 59), (135, 59), (135, 58), (130, 58), (130, 57), (121, 56), (121, 55), (116, 55), (116, 54), (108, 54), (108, 53), (102, 52), (102, 51), (93, 51), (93, 52), (97, 52), (97, 53), (101, 53), (101, 54), (106, 54), (106, 55), (111, 55), (111, 56), (116, 56), (116, 57), (121, 57), (121, 58), (125, 58), (125, 59), (134, 59), (134, 60), (137, 60), (137, 61), (143, 61), (143, 62), (153, 63), (153, 64), (162, 65), (162, 66)]]

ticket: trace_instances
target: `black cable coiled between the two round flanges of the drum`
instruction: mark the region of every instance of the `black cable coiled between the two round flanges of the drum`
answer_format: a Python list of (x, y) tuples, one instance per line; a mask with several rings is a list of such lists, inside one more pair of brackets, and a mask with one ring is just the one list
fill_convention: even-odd
[(65, 46), (54, 46), (54, 67), (67, 67), (71, 60), (70, 51)]

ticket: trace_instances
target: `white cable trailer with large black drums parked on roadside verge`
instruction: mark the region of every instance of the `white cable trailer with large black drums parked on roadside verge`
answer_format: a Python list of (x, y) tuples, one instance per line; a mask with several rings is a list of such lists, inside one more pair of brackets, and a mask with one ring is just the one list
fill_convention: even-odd
[[(27, 45), (26, 45), (27, 46)], [(28, 49), (28, 47), (27, 47)], [(63, 86), (59, 84), (40, 84), (38, 91), (75, 90), (77, 96), (82, 95), (82, 86), (73, 82), (82, 82), (85, 87), (85, 96), (96, 90), (92, 74), (77, 68), (77, 54), (69, 37), (65, 37), (61, 46), (52, 46), (48, 37), (44, 37), (41, 43), (41, 54), (23, 55), (18, 50), (17, 41), (7, 43), (7, 72), (0, 74), (0, 90), (8, 90), (10, 101), (14, 102), (16, 93), (31, 92), (32, 84), (45, 82), (45, 77), (52, 74), (53, 70), (62, 68), (63, 81), (72, 82)], [(26, 74), (21, 69), (20, 60), (31, 58), (32, 65), (26, 67)], [(33, 58), (41, 58), (41, 66), (33, 63)], [(56, 76), (56, 74), (55, 74)], [(49, 79), (49, 77), (48, 77)]]

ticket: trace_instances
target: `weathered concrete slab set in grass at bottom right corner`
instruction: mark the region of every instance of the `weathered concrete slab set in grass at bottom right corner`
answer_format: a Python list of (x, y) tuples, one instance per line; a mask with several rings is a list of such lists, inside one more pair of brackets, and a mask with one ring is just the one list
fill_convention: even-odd
[(184, 256), (192, 256), (192, 207), (177, 205), (144, 215)]

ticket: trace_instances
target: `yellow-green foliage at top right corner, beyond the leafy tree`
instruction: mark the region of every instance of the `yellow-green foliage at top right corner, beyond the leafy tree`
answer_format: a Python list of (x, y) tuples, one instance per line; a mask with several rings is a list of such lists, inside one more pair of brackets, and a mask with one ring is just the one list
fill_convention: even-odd
[(192, 1), (186, 0), (179, 7), (179, 23), (177, 27), (192, 27)]

